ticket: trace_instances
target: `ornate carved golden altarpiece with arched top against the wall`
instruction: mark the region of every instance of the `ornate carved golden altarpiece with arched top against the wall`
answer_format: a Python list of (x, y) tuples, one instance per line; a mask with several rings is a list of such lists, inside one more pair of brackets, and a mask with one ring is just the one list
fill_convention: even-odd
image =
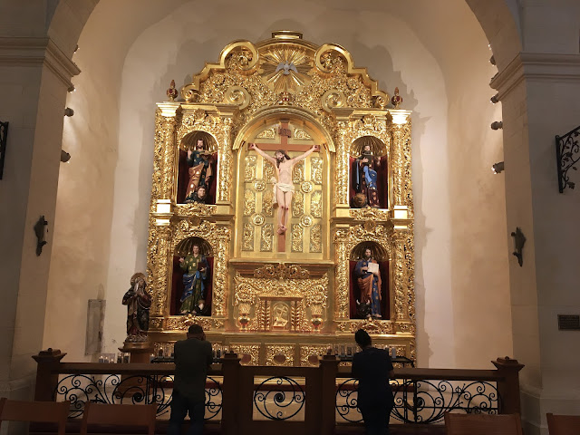
[[(155, 348), (201, 324), (242, 363), (310, 365), (329, 346), (353, 344), (363, 328), (414, 360), (411, 112), (394, 98), (391, 106), (343, 47), (288, 31), (230, 43), (178, 101), (176, 94), (157, 104), (155, 121), (148, 252)], [(185, 203), (180, 186), (183, 156), (198, 139), (213, 156), (208, 204)], [(320, 147), (293, 169), (283, 234), (275, 167), (249, 143), (293, 158)], [(384, 200), (354, 208), (353, 159), (365, 145), (383, 162)], [(176, 265), (194, 244), (210, 259), (205, 315), (178, 307)], [(353, 307), (353, 263), (366, 248), (386, 265), (381, 318)]]

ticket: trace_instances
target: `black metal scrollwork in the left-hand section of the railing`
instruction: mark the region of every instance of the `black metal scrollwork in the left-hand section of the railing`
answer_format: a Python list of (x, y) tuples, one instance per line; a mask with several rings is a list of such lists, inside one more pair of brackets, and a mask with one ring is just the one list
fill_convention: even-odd
[[(208, 377), (213, 386), (206, 389), (206, 420), (214, 419), (221, 411), (221, 386)], [(71, 401), (69, 418), (82, 415), (87, 401), (94, 403), (157, 404), (157, 415), (169, 411), (173, 376), (110, 374), (97, 379), (85, 374), (70, 374), (61, 379), (54, 391), (57, 401)]]

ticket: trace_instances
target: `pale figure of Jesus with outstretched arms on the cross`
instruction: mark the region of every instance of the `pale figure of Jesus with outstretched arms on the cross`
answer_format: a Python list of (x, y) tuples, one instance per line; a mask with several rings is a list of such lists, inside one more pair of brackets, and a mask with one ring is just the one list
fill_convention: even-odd
[(304, 152), (304, 154), (291, 159), (285, 150), (277, 150), (274, 153), (274, 157), (271, 157), (263, 150), (257, 148), (255, 143), (249, 144), (250, 150), (256, 150), (260, 156), (272, 163), (275, 168), (276, 182), (274, 185), (274, 200), (278, 204), (278, 234), (285, 234), (288, 214), (290, 213), (290, 205), (292, 204), (292, 197), (294, 195), (295, 189), (294, 183), (292, 182), (292, 169), (296, 163), (300, 160), (304, 160), (314, 151), (319, 150), (319, 148), (318, 145), (313, 145), (313, 147)]

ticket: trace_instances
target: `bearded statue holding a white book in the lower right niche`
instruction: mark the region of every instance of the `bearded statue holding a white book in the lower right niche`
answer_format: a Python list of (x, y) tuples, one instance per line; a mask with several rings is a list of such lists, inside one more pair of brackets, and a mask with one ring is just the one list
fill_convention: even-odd
[(382, 318), (381, 272), (379, 263), (372, 258), (370, 247), (364, 250), (364, 256), (356, 262), (354, 275), (361, 295), (361, 300), (357, 301), (359, 315), (366, 318)]

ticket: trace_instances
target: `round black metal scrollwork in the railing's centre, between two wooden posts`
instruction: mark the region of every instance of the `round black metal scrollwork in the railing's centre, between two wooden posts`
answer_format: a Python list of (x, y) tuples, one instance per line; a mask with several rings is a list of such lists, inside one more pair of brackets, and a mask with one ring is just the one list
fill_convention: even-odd
[(298, 382), (285, 376), (268, 378), (254, 391), (256, 409), (268, 420), (294, 417), (304, 407), (304, 399), (304, 390)]

